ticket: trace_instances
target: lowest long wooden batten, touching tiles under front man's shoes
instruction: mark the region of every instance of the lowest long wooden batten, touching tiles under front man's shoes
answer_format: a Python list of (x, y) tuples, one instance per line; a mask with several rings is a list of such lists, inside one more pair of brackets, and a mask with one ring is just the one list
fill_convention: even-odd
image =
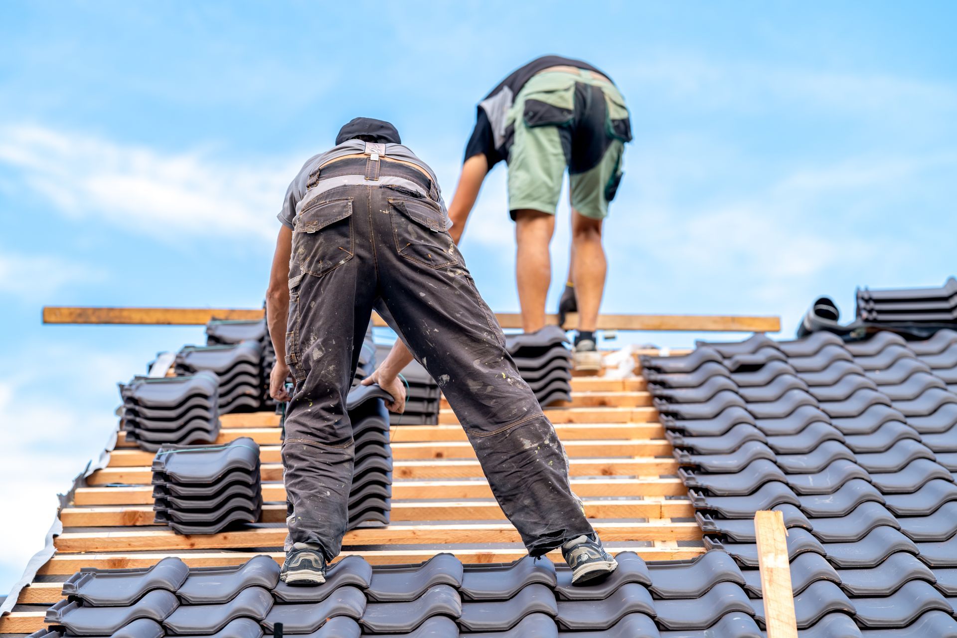
[[(605, 548), (612, 554), (623, 551), (633, 551), (645, 561), (671, 561), (693, 559), (704, 553), (702, 547), (629, 547), (605, 543)], [(346, 556), (359, 555), (372, 564), (408, 564), (428, 561), (438, 552), (454, 554), (462, 562), (489, 563), (509, 562), (527, 556), (527, 551), (521, 545), (511, 548), (474, 548), (456, 547), (455, 545), (441, 545), (426, 549), (405, 548), (401, 546), (377, 550), (344, 550), (340, 559)], [(117, 554), (56, 554), (50, 561), (40, 567), (37, 574), (41, 576), (68, 576), (79, 571), (80, 567), (96, 567), (98, 569), (130, 569), (150, 567), (167, 556), (175, 556), (185, 561), (190, 567), (218, 567), (241, 564), (259, 554), (268, 556), (281, 563), (285, 558), (282, 552), (138, 552)], [(558, 551), (550, 552), (548, 557), (557, 563), (563, 562)]]

